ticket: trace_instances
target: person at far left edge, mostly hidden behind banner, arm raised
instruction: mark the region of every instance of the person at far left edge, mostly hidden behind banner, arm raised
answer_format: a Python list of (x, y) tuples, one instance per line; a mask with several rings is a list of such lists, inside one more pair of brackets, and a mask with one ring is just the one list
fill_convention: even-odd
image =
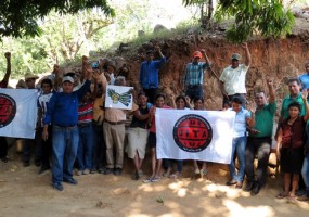
[[(3, 79), (0, 81), (0, 88), (7, 88), (9, 84), (9, 78), (11, 75), (11, 53), (7, 52), (4, 53), (4, 56), (7, 59), (7, 73), (3, 77)], [(3, 163), (8, 163), (8, 143), (5, 137), (0, 137), (0, 159)]]

